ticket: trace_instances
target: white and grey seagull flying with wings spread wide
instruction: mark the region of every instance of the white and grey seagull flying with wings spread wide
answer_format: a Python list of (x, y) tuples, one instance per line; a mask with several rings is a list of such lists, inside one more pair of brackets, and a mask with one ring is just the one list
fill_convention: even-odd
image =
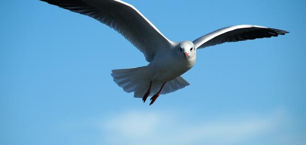
[(133, 5), (121, 0), (41, 0), (88, 15), (118, 31), (140, 50), (147, 66), (112, 70), (112, 77), (125, 92), (150, 105), (160, 94), (184, 88), (189, 83), (181, 76), (191, 69), (197, 58), (197, 50), (226, 42), (270, 38), (289, 33), (256, 25), (236, 25), (208, 33), (194, 41), (173, 42), (165, 37)]

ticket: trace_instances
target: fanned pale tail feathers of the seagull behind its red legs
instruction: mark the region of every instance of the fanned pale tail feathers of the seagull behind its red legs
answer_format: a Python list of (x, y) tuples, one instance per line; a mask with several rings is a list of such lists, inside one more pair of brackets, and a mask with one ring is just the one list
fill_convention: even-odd
[[(134, 97), (142, 98), (147, 92), (151, 76), (150, 72), (147, 71), (147, 66), (131, 68), (131, 69), (120, 69), (112, 70), (111, 75), (114, 78), (114, 82), (122, 87), (125, 92), (134, 92)], [(158, 92), (164, 82), (153, 82), (151, 87), (151, 93), (149, 96), (153, 96)], [(167, 94), (188, 86), (189, 83), (181, 76), (168, 81), (163, 87), (161, 94)]]

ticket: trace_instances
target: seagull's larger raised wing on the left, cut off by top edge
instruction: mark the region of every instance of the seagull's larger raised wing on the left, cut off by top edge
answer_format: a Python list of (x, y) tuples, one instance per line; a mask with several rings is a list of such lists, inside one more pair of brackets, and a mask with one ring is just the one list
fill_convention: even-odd
[(115, 29), (152, 61), (156, 51), (173, 42), (167, 39), (134, 6), (121, 0), (41, 0), (85, 14)]

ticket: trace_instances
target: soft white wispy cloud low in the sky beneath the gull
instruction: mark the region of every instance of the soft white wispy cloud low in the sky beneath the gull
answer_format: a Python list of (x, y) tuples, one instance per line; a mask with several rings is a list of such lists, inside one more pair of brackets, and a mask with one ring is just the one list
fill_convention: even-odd
[(279, 111), (267, 116), (184, 121), (181, 119), (184, 116), (170, 113), (129, 111), (102, 122), (102, 142), (105, 145), (233, 145), (275, 129), (284, 118)]

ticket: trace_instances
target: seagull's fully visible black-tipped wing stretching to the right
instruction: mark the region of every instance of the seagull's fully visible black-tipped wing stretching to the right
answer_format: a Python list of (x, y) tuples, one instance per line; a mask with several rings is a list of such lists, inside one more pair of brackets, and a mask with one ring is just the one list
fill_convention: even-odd
[(285, 33), (288, 33), (288, 31), (255, 25), (237, 25), (213, 31), (196, 39), (193, 43), (194, 47), (199, 49), (225, 42), (270, 38), (272, 36), (276, 37), (279, 34), (284, 35)]

